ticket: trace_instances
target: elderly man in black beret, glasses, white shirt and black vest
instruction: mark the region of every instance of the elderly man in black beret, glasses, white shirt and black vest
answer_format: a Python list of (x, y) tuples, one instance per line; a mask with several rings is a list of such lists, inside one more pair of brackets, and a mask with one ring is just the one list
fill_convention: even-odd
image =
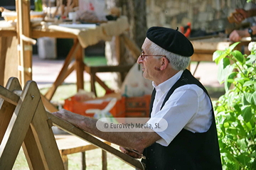
[(213, 106), (206, 89), (186, 67), (193, 45), (178, 30), (152, 27), (146, 33), (142, 54), (143, 76), (152, 81), (150, 123), (167, 121), (166, 130), (152, 132), (101, 132), (96, 121), (69, 111), (59, 116), (86, 132), (115, 143), (135, 158), (143, 153), (146, 169), (222, 169)]

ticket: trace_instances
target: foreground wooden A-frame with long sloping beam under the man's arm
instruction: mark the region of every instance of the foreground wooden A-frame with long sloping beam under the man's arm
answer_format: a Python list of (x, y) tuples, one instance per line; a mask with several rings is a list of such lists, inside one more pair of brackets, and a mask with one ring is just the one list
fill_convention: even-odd
[(134, 168), (144, 169), (139, 160), (48, 113), (35, 81), (27, 81), (21, 91), (18, 79), (10, 78), (6, 88), (0, 86), (0, 97), (1, 169), (11, 169), (14, 166), (21, 146), (30, 169), (64, 169), (51, 130), (52, 125), (114, 154)]

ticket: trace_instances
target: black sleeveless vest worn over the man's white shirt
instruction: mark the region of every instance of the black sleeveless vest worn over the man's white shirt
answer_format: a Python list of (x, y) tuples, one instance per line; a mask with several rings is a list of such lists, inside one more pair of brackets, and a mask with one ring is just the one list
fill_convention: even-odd
[[(204, 86), (192, 76), (188, 69), (186, 69), (181, 75), (181, 78), (178, 79), (176, 84), (171, 87), (170, 91), (166, 95), (166, 98), (164, 98), (164, 103), (162, 104), (161, 108), (163, 108), (164, 104), (166, 101), (168, 101), (174, 90), (185, 84), (196, 84), (208, 95), (208, 92)], [(156, 90), (154, 89), (151, 96), (150, 113), (153, 107), (155, 95)], [(159, 145), (155, 142), (153, 145), (144, 149), (143, 154), (146, 156), (146, 159), (142, 159), (142, 162), (146, 164), (146, 169), (222, 169), (213, 106), (211, 107), (213, 123), (210, 125), (210, 129), (207, 132), (193, 133), (183, 129), (167, 147)]]

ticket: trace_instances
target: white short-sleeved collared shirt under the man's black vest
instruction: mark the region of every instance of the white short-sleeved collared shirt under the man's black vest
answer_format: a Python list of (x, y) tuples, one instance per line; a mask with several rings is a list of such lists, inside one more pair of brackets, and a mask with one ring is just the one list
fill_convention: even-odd
[[(183, 128), (191, 132), (206, 132), (212, 123), (210, 98), (196, 84), (186, 84), (175, 89), (160, 111), (166, 94), (182, 73), (183, 70), (159, 86), (155, 86), (154, 81), (152, 82), (156, 89), (156, 96), (151, 118), (164, 118), (168, 123), (166, 130), (156, 132), (161, 136), (161, 140), (156, 142), (163, 146), (168, 146)], [(150, 119), (149, 123), (154, 125), (155, 119)]]

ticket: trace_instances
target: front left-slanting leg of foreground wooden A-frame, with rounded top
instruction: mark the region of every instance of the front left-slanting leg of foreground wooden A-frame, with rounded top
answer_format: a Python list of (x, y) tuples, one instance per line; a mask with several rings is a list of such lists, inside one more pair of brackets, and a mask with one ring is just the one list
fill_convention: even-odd
[(14, 166), (18, 151), (40, 100), (40, 96), (35, 93), (36, 90), (36, 82), (28, 81), (1, 142), (1, 169), (11, 169)]

